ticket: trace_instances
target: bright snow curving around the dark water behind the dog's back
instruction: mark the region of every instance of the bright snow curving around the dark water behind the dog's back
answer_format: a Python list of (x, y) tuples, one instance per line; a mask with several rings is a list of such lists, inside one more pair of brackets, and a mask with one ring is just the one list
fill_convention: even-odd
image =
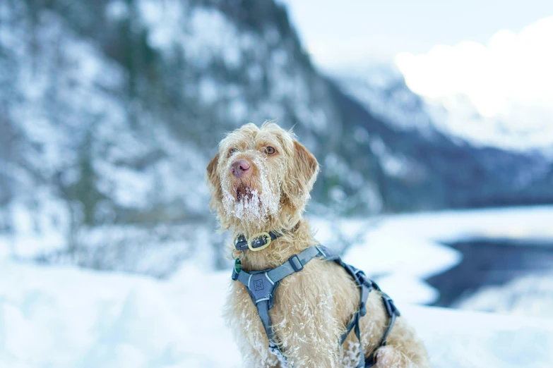
[[(551, 206), (438, 211), (381, 216), (372, 221), (375, 228), (365, 231), (358, 245), (347, 250), (345, 262), (371, 275), (385, 275), (379, 280), (381, 288), (395, 290), (390, 294), (396, 300), (411, 303), (436, 301), (438, 293), (424, 279), (460, 262), (460, 253), (443, 243), (472, 238), (534, 239), (538, 243), (553, 239)], [(318, 224), (328, 228), (325, 221)], [(367, 226), (367, 221), (359, 221), (357, 227), (363, 228), (363, 224)], [(322, 238), (327, 239), (328, 234), (323, 233)]]

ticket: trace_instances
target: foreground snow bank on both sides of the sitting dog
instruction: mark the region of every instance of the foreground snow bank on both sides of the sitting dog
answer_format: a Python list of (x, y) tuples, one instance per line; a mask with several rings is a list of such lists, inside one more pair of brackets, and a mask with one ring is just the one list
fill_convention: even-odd
[[(170, 281), (0, 263), (0, 367), (235, 368), (220, 317), (228, 272)], [(434, 367), (551, 367), (553, 320), (399, 303)]]

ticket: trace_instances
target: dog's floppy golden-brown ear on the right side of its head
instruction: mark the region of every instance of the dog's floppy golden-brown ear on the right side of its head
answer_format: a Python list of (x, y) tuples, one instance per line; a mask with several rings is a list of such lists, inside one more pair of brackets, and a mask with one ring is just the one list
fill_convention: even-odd
[(319, 163), (301, 143), (294, 141), (294, 157), (283, 182), (284, 200), (302, 211), (319, 173)]

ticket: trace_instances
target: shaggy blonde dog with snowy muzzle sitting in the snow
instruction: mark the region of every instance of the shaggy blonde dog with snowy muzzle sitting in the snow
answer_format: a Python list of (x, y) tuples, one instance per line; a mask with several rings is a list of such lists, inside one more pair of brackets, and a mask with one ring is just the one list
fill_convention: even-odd
[[(228, 134), (207, 168), (208, 185), (222, 230), (250, 238), (260, 232), (282, 233), (261, 251), (246, 250), (244, 271), (272, 269), (318, 243), (302, 214), (319, 171), (313, 154), (295, 135), (275, 123), (247, 124)], [(234, 259), (242, 253), (232, 250)], [(268, 338), (254, 302), (242, 283), (233, 282), (225, 317), (235, 333), (244, 367), (281, 367), (268, 350)], [(359, 309), (359, 286), (334, 262), (315, 258), (287, 276), (270, 309), (273, 331), (290, 367), (356, 367), (359, 343), (340, 336)], [(373, 290), (362, 317), (364, 356), (378, 348), (389, 317), (381, 294)], [(376, 367), (429, 367), (424, 345), (398, 317), (387, 345), (376, 351)]]

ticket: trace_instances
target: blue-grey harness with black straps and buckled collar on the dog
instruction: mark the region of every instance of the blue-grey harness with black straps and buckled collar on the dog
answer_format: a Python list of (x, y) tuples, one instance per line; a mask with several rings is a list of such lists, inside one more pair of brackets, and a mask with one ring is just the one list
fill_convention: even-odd
[[(261, 233), (252, 237), (251, 240), (246, 240), (244, 235), (239, 235), (236, 242), (234, 243), (234, 247), (237, 250), (242, 251), (244, 251), (245, 249), (253, 251), (261, 250), (268, 247), (271, 241), (278, 238), (278, 236), (280, 236), (280, 234), (273, 232)], [(400, 312), (396, 308), (396, 305), (393, 304), (393, 300), (391, 300), (391, 298), (388, 297), (388, 295), (386, 295), (385, 293), (382, 293), (379, 286), (376, 285), (374, 281), (369, 280), (369, 278), (367, 278), (363, 271), (356, 269), (354, 266), (350, 266), (349, 264), (345, 264), (337, 254), (334, 254), (333, 252), (331, 252), (331, 250), (328, 250), (328, 248), (323, 247), (322, 245), (309, 247), (299, 254), (294, 254), (287, 260), (287, 262), (284, 262), (280, 266), (275, 267), (274, 269), (265, 269), (262, 271), (243, 271), (241, 259), (235, 259), (234, 269), (232, 269), (232, 280), (239, 281), (240, 283), (244, 284), (244, 286), (246, 286), (251, 300), (257, 307), (257, 312), (259, 314), (259, 318), (261, 319), (261, 323), (263, 324), (263, 328), (267, 333), (267, 338), (269, 340), (269, 351), (273, 353), (273, 355), (278, 357), (278, 360), (280, 360), (280, 362), (282, 362), (284, 366), (287, 367), (287, 358), (283, 354), (282, 350), (280, 350), (280, 347), (278, 346), (278, 343), (276, 341), (275, 333), (273, 331), (273, 324), (270, 321), (269, 310), (273, 308), (273, 303), (275, 300), (275, 290), (278, 288), (280, 281), (283, 280), (283, 278), (285, 278), (286, 276), (290, 276), (295, 272), (302, 271), (305, 264), (307, 264), (309, 261), (311, 261), (311, 259), (314, 259), (315, 257), (319, 257), (319, 259), (323, 259), (328, 262), (335, 262), (339, 264), (343, 267), (343, 269), (345, 269), (345, 271), (347, 271), (347, 274), (350, 274), (350, 276), (352, 276), (352, 278), (355, 280), (355, 283), (357, 283), (357, 285), (359, 286), (359, 309), (353, 315), (350, 323), (347, 324), (346, 331), (340, 338), (340, 345), (343, 345), (347, 336), (352, 330), (354, 330), (355, 336), (359, 341), (359, 350), (361, 352), (357, 368), (373, 367), (374, 364), (376, 364), (376, 350), (386, 345), (386, 337), (388, 337), (388, 333), (390, 333), (393, 324), (396, 321), (396, 317), (400, 316)], [(361, 342), (359, 320), (361, 319), (361, 317), (367, 314), (365, 304), (367, 303), (367, 298), (369, 298), (369, 293), (373, 289), (376, 289), (382, 293), (382, 301), (384, 304), (384, 308), (386, 309), (386, 313), (390, 318), (390, 323), (388, 324), (388, 329), (386, 329), (381, 338), (381, 343), (374, 349), (372, 354), (367, 357), (367, 359), (365, 359), (363, 354), (363, 345)]]

